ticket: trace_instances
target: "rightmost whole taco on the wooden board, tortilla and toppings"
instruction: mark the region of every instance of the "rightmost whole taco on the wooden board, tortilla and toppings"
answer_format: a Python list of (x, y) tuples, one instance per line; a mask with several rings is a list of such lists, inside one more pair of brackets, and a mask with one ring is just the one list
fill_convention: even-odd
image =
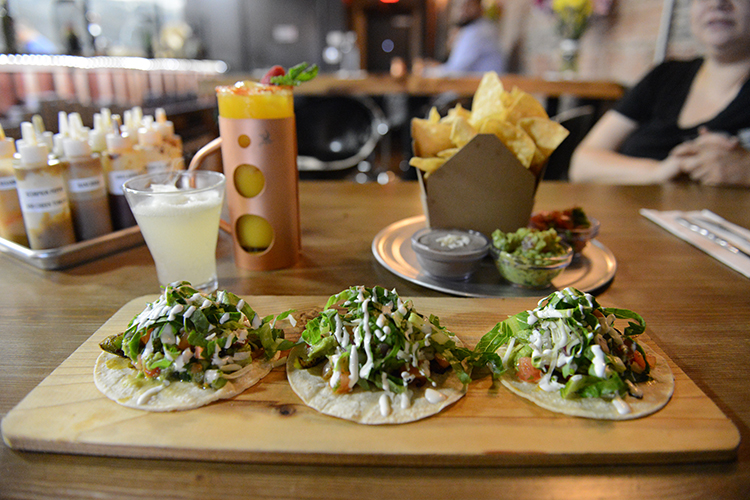
[[(627, 320), (623, 331), (617, 319)], [(554, 292), (531, 311), (498, 323), (477, 344), (512, 392), (551, 411), (626, 420), (667, 404), (674, 376), (663, 357), (635, 337), (633, 311), (601, 307), (574, 288)]]

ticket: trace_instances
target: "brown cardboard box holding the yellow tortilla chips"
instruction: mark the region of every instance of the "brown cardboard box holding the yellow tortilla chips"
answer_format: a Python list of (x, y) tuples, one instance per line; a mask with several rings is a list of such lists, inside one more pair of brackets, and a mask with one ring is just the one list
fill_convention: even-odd
[(538, 185), (493, 134), (479, 134), (427, 179), (417, 170), (427, 226), (491, 237), (529, 223)]

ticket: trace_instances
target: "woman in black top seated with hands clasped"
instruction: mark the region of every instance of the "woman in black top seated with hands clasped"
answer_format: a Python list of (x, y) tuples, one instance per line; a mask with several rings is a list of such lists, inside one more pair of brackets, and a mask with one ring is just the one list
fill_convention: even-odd
[(750, 186), (750, 0), (693, 0), (691, 27), (705, 56), (646, 75), (580, 144), (571, 180)]

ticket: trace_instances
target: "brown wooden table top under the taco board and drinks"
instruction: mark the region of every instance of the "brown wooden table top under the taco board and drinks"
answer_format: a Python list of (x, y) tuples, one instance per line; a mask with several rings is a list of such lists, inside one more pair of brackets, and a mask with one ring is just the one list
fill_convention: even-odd
[[(227, 235), (220, 287), (240, 295), (330, 295), (351, 285), (402, 296), (443, 294), (380, 266), (370, 247), (388, 224), (421, 213), (418, 186), (305, 181), (303, 257), (273, 272), (237, 269)], [(647, 320), (649, 335), (740, 430), (737, 460), (681, 465), (436, 468), (316, 467), (116, 459), (0, 448), (0, 498), (728, 498), (750, 492), (750, 280), (638, 214), (708, 208), (750, 227), (750, 191), (693, 185), (609, 187), (542, 183), (536, 209), (581, 204), (617, 258), (599, 295)], [(62, 363), (129, 300), (158, 292), (145, 246), (64, 271), (0, 256), (0, 415)], [(515, 299), (508, 299), (515, 300)]]

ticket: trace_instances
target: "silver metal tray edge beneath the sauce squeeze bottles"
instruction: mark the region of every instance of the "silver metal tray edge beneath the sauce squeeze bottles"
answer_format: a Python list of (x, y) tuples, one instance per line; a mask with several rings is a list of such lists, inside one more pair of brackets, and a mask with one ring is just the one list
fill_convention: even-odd
[(31, 250), (0, 238), (0, 252), (39, 269), (54, 270), (77, 266), (143, 243), (140, 228), (133, 226), (98, 238), (46, 250)]

